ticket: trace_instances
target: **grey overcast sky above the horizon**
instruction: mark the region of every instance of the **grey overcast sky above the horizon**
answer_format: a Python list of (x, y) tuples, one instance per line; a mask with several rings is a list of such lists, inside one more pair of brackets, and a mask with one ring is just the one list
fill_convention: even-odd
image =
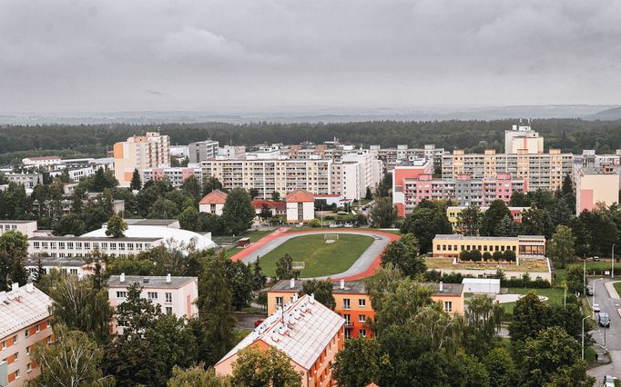
[(0, 111), (619, 104), (621, 2), (0, 2)]

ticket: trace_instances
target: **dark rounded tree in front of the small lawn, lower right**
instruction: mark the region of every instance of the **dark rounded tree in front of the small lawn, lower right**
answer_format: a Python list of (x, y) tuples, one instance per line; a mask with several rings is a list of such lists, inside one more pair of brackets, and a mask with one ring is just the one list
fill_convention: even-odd
[(550, 307), (539, 300), (534, 292), (528, 292), (517, 300), (514, 317), (509, 323), (509, 334), (512, 342), (523, 342), (535, 337), (550, 325)]

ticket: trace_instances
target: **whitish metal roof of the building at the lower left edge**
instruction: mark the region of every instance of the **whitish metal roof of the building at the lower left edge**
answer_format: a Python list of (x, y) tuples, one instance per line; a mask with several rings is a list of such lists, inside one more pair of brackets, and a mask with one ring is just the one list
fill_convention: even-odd
[[(0, 293), (0, 339), (49, 317), (48, 308), (52, 305), (52, 299), (36, 287), (29, 286), (32, 285)], [(28, 292), (28, 289), (31, 291)]]

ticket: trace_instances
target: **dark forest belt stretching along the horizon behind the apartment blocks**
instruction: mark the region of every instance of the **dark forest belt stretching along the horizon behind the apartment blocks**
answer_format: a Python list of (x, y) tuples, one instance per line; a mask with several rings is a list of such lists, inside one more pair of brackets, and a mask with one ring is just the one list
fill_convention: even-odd
[[(517, 124), (500, 121), (436, 122), (356, 122), (346, 124), (91, 124), (91, 125), (5, 125), (0, 126), (0, 164), (28, 155), (61, 157), (103, 157), (107, 147), (132, 134), (159, 130), (168, 134), (171, 144), (188, 144), (212, 139), (220, 145), (321, 144), (338, 138), (343, 144), (382, 147), (408, 144), (435, 144), (446, 150), (482, 152), (485, 148), (502, 151), (504, 131)], [(579, 119), (534, 120), (533, 129), (545, 136), (545, 148), (581, 153), (596, 149), (598, 154), (621, 149), (621, 121), (583, 121)]]

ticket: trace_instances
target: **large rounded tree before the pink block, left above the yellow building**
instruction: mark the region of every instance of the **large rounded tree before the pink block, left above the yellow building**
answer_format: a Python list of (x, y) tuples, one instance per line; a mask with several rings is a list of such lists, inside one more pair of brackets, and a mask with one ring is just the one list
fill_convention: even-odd
[(437, 204), (423, 200), (405, 217), (401, 232), (412, 233), (418, 240), (421, 253), (427, 253), (432, 251), (435, 235), (453, 233), (453, 227)]

